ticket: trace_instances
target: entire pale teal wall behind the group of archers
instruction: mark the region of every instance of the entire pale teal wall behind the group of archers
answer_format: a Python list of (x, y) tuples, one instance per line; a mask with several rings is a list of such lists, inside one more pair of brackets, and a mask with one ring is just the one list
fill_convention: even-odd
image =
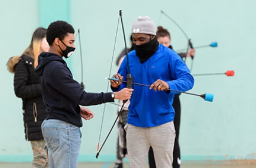
[[(160, 1), (159, 1), (160, 2)], [(83, 79), (89, 92), (106, 91), (111, 56), (118, 20), (123, 11), (127, 42), (133, 21), (148, 15), (167, 28), (172, 35), (174, 49), (186, 47), (181, 31), (160, 10), (170, 15), (191, 38), (194, 46), (217, 41), (217, 48), (196, 51), (192, 74), (225, 73), (233, 69), (234, 77), (195, 77), (195, 87), (189, 92), (214, 93), (214, 102), (199, 97), (181, 95), (182, 115), (180, 147), (183, 160), (256, 159), (256, 79), (254, 56), (256, 37), (256, 2), (248, 1), (5, 1), (0, 7), (0, 46), (2, 82), (0, 113), (0, 161), (31, 161), (30, 143), (25, 141), (22, 121), (22, 101), (13, 91), (13, 74), (6, 69), (7, 60), (21, 54), (38, 26), (47, 27), (54, 20), (70, 22), (80, 29), (83, 54)], [(54, 14), (54, 15), (53, 15)], [(120, 25), (119, 25), (120, 26)], [(119, 27), (121, 28), (121, 27)], [(78, 38), (77, 38), (78, 39)], [(68, 59), (74, 78), (80, 82), (80, 48)], [(121, 29), (117, 36), (115, 59), (124, 47)], [(188, 67), (191, 60), (186, 61)], [(115, 74), (114, 65), (111, 74)], [(90, 107), (95, 117), (84, 121), (81, 128), (80, 161), (114, 161), (116, 128), (106, 141), (99, 159), (95, 159), (103, 105)], [(106, 105), (101, 144), (116, 116), (117, 107)]]

